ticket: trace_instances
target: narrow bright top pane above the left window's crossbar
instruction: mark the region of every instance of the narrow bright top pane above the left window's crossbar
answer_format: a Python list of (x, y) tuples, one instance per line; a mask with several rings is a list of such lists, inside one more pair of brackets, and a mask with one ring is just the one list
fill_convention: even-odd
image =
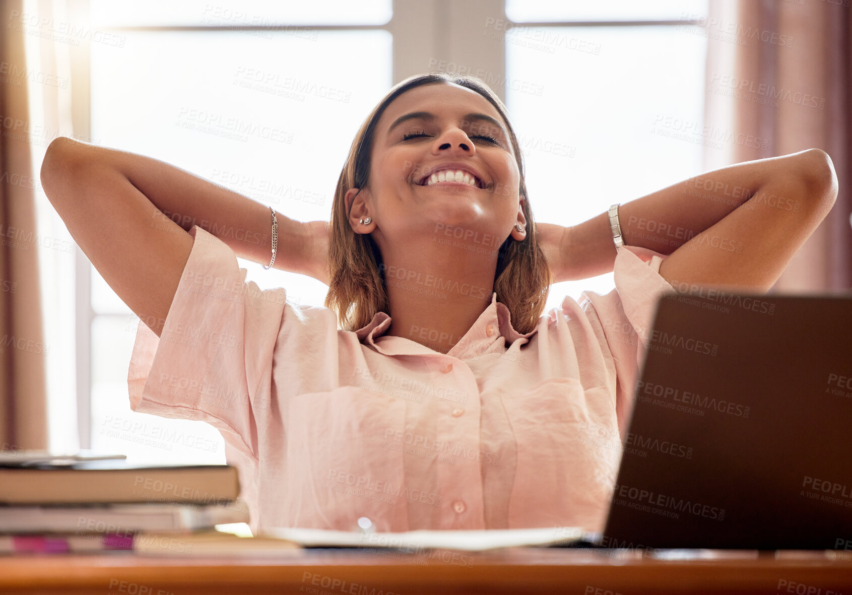
[(391, 11), (391, 0), (91, 0), (93, 26), (281, 25), (294, 36), (317, 32), (289, 26), (384, 25)]

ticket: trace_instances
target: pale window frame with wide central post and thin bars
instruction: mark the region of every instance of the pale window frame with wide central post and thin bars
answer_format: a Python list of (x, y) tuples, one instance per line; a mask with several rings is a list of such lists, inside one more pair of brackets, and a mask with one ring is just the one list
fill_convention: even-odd
[[(453, 19), (447, 20), (449, 7), (453, 8)], [(72, 21), (89, 21), (89, 0), (71, 3), (69, 18)], [(527, 27), (589, 27), (589, 26), (661, 26), (695, 25), (690, 20), (630, 20), (630, 21), (529, 21), (509, 20), (505, 13), (504, 0), (480, 0), (476, 3), (454, 4), (452, 0), (392, 0), (391, 19), (381, 25), (300, 25), (317, 31), (383, 30), (393, 38), (391, 56), (393, 84), (421, 72), (446, 70), (464, 72), (464, 68), (493, 73), (492, 78), (505, 80), (506, 42), (470, 43), (479, 37), (488, 19), (502, 20), (508, 32), (513, 26)], [(493, 22), (493, 21), (492, 21)], [(274, 31), (278, 25), (233, 25), (233, 26), (99, 26), (108, 32), (170, 32), (170, 31), (228, 31), (256, 30)], [(90, 47), (83, 40), (72, 48), (72, 130), (75, 136), (91, 138), (91, 84)], [(453, 68), (452, 66), (456, 66)], [(475, 73), (475, 72), (472, 72)], [(487, 82), (487, 81), (486, 81)], [(506, 101), (504, 87), (492, 85), (501, 101)], [(126, 314), (98, 314), (91, 303), (91, 263), (83, 251), (76, 251), (74, 271), (75, 297), (75, 344), (77, 347), (77, 413), (80, 448), (91, 448), (91, 399), (92, 399), (92, 342), (91, 329), (98, 317), (127, 317)]]

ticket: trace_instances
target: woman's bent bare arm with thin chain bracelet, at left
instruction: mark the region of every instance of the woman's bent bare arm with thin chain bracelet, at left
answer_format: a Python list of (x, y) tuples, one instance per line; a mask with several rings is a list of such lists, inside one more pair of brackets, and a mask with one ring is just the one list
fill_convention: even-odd
[[(163, 161), (60, 136), (44, 155), (41, 182), (95, 269), (158, 336), (192, 251), (193, 225), (238, 257), (269, 263), (267, 206)], [(327, 223), (302, 223), (277, 211), (276, 219), (274, 268), (327, 282), (325, 259), (318, 257), (327, 246)]]

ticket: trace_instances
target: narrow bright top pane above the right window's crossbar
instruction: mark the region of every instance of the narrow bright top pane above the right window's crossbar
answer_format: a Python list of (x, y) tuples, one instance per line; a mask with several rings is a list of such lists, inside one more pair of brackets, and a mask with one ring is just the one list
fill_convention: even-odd
[(506, 0), (516, 23), (559, 20), (692, 20), (707, 14), (707, 0)]

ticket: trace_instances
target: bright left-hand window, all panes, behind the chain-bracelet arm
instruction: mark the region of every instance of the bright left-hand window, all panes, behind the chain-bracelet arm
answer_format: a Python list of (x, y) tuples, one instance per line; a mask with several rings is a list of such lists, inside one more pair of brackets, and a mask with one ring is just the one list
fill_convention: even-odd
[[(91, 137), (192, 171), (288, 217), (327, 219), (349, 143), (392, 85), (392, 38), (378, 26), (300, 23), (327, 25), (334, 14), (337, 23), (381, 24), (390, 3), (340, 2), (343, 13), (287, 4), (300, 14), (285, 14), (279, 3), (240, 3), (239, 10), (198, 3), (195, 12), (190, 4), (159, 4), (92, 3), (93, 25), (114, 37), (91, 43)], [(151, 27), (118, 28), (129, 19)], [(182, 28), (193, 24), (206, 28)], [(243, 259), (239, 266), (262, 288), (287, 287), (291, 302), (325, 299), (319, 281), (270, 274)], [(89, 412), (81, 414), (90, 423), (81, 425), (81, 446), (88, 435), (90, 448), (127, 453), (134, 462), (224, 463), (212, 426), (130, 410), (127, 372), (139, 321), (87, 269), (91, 389)]]

